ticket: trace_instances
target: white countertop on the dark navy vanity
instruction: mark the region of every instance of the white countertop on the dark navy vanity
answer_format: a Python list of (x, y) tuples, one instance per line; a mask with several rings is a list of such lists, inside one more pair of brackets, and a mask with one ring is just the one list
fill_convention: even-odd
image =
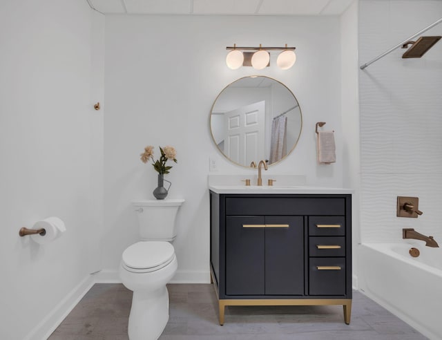
[(307, 187), (303, 185), (209, 185), (209, 189), (215, 193), (353, 193), (353, 189), (330, 188), (330, 187)]

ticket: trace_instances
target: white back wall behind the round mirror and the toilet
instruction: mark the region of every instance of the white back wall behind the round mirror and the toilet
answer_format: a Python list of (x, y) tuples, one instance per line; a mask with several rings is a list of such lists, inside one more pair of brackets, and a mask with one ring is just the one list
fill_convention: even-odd
[[(291, 70), (276, 55), (265, 70), (225, 65), (226, 46), (296, 46)], [(137, 240), (131, 200), (153, 198), (156, 173), (140, 161), (143, 148), (170, 144), (170, 198), (185, 198), (174, 246), (175, 281), (209, 280), (209, 157), (218, 173), (255, 175), (224, 160), (209, 131), (209, 113), (222, 89), (245, 75), (267, 75), (293, 91), (303, 128), (294, 153), (270, 174), (307, 176), (307, 184), (342, 187), (343, 131), (338, 17), (106, 16), (104, 124), (104, 268), (117, 270), (123, 250)], [(337, 159), (316, 164), (315, 124), (336, 132)]]

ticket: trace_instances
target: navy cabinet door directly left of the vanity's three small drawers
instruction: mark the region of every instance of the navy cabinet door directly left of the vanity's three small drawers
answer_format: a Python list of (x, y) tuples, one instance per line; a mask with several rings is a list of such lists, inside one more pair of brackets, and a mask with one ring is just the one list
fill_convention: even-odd
[(265, 294), (303, 295), (304, 218), (266, 216), (265, 223)]

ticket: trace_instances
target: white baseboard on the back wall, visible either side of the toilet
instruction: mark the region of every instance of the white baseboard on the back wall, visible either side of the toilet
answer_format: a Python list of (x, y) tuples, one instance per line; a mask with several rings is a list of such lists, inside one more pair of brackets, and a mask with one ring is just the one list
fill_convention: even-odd
[[(95, 274), (95, 283), (122, 283), (117, 270), (102, 270)], [(177, 270), (170, 283), (210, 283), (210, 272)]]

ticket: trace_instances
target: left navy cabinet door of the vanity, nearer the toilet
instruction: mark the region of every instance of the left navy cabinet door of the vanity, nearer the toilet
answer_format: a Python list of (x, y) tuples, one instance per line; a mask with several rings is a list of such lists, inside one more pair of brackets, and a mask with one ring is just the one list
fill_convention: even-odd
[(264, 294), (265, 218), (226, 216), (226, 294)]

